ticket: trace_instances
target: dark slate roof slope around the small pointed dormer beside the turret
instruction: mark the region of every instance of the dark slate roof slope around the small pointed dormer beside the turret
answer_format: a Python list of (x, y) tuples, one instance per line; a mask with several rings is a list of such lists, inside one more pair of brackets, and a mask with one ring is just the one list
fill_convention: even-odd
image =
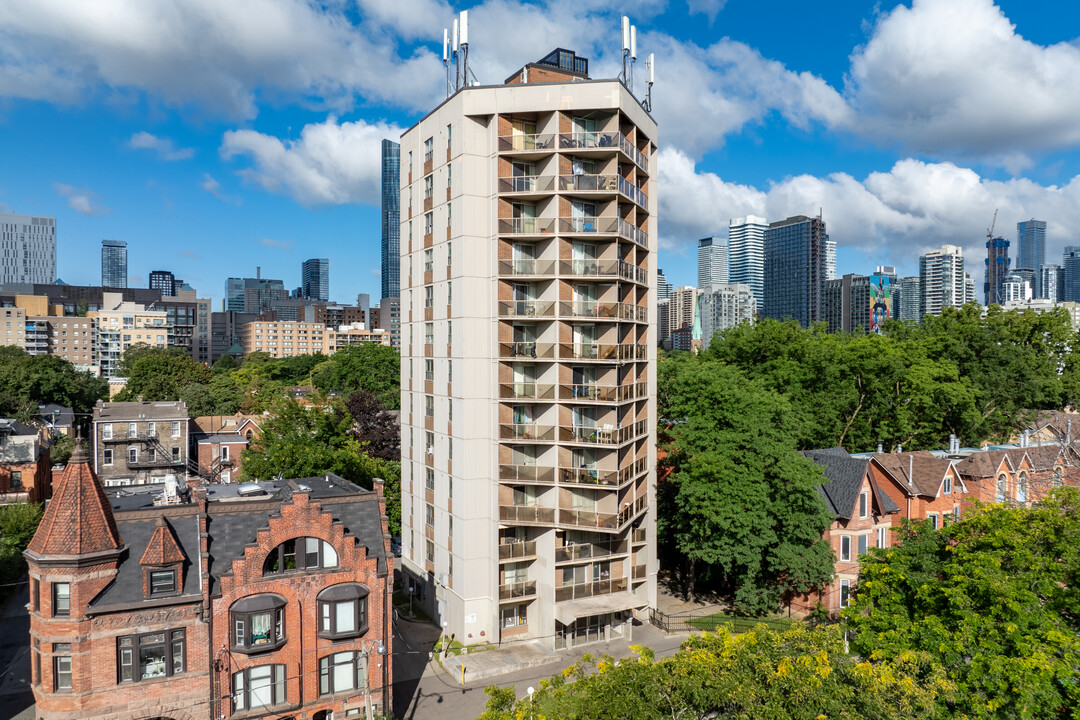
[[(164, 511), (163, 511), (164, 513)], [(173, 526), (173, 532), (177, 544), (187, 556), (188, 560), (183, 566), (184, 592), (179, 597), (170, 598), (171, 602), (189, 602), (200, 600), (202, 593), (199, 588), (199, 517), (194, 513), (168, 518)], [(111, 606), (123, 606), (133, 602), (141, 602), (143, 597), (143, 566), (138, 560), (146, 547), (150, 544), (154, 532), (158, 529), (157, 518), (146, 519), (123, 519), (121, 515), (117, 521), (120, 536), (124, 541), (126, 552), (120, 562), (117, 576), (91, 603), (91, 612), (104, 612)]]

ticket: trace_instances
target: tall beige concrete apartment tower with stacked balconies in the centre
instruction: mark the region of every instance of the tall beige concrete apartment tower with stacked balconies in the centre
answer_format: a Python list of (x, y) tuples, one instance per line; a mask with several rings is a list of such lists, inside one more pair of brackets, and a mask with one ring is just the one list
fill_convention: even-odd
[(465, 643), (656, 601), (656, 137), (565, 50), (402, 137), (401, 565)]

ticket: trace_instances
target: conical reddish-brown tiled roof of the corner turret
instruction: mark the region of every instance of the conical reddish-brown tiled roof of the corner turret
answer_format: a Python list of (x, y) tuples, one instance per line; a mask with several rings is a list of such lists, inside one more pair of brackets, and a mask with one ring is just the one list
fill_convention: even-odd
[(70, 557), (123, 547), (112, 510), (80, 444), (53, 488), (53, 499), (27, 552)]

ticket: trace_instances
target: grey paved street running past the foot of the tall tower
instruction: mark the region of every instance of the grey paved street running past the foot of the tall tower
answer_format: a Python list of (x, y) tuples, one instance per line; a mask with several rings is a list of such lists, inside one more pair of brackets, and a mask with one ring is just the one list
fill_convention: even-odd
[[(514, 687), (517, 696), (522, 697), (529, 685), (536, 687), (537, 682), (558, 673), (586, 652), (593, 656), (609, 654), (613, 657), (626, 657), (632, 654), (631, 642), (627, 639), (598, 642), (557, 652), (553, 662), (540, 667), (530, 667), (461, 685), (440, 667), (438, 663), (428, 660), (428, 653), (438, 639), (438, 628), (427, 623), (402, 620), (399, 621), (395, 633), (394, 710), (400, 720), (426, 718), (472, 720), (484, 711), (484, 704), (487, 702), (484, 688), (490, 684), (501, 688)], [(658, 656), (662, 656), (678, 650), (685, 638), (685, 634), (669, 636), (646, 623), (634, 627), (633, 644), (648, 646)]]

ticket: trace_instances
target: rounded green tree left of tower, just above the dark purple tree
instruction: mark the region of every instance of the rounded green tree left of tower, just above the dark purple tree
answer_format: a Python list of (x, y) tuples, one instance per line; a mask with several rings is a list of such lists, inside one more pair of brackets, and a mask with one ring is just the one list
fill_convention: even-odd
[(351, 395), (366, 390), (383, 407), (401, 406), (401, 356), (397, 351), (374, 342), (340, 350), (312, 372), (312, 381), (323, 392)]

